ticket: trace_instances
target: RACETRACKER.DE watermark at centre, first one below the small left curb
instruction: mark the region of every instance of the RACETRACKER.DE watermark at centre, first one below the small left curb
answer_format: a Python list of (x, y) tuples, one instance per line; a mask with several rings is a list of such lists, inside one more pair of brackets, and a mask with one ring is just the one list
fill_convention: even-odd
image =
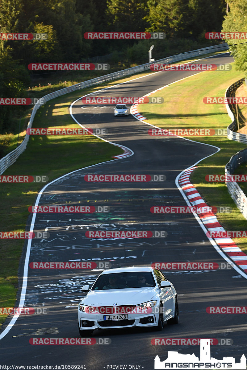
[(85, 175), (84, 181), (87, 182), (149, 182), (166, 181), (166, 175)]

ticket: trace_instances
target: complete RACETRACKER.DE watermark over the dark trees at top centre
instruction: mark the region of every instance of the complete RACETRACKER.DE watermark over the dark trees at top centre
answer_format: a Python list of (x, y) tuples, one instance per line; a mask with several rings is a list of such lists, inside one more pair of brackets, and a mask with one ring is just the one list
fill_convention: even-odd
[(85, 32), (87, 40), (164, 40), (164, 32)]

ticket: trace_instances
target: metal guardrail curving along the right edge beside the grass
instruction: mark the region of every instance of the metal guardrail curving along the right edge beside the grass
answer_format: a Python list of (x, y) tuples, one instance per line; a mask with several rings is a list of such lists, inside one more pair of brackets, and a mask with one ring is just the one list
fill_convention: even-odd
[[(241, 78), (241, 80), (238, 80), (230, 87), (228, 87), (225, 96), (226, 97), (235, 96), (237, 88), (243, 84), (244, 80), (245, 82), (247, 82), (246, 79)], [(227, 127), (228, 139), (247, 144), (247, 135), (240, 134), (239, 132), (234, 132), (234, 130), (237, 130), (237, 122), (235, 118), (236, 115), (235, 104), (226, 104), (226, 107), (228, 115), (232, 120), (231, 124)], [(236, 168), (244, 162), (247, 162), (247, 149), (240, 150), (230, 158), (230, 161), (225, 166), (225, 175), (226, 176), (232, 175)], [(243, 190), (240, 188), (236, 181), (225, 181), (225, 182), (228, 189), (228, 193), (230, 194), (231, 198), (237, 205), (238, 209), (240, 210), (244, 218), (247, 219), (247, 196), (244, 194)]]

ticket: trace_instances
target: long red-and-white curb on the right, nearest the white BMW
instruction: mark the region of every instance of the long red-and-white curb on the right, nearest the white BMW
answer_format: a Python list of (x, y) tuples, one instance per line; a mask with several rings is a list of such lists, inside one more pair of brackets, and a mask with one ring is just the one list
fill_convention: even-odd
[[(185, 193), (188, 202), (193, 206), (208, 206), (198, 190), (190, 182), (190, 174), (197, 167), (186, 169), (178, 178), (178, 184)], [(213, 212), (197, 213), (207, 231), (225, 231)], [(219, 248), (245, 273), (247, 273), (247, 255), (233, 242), (231, 238), (213, 238)]]

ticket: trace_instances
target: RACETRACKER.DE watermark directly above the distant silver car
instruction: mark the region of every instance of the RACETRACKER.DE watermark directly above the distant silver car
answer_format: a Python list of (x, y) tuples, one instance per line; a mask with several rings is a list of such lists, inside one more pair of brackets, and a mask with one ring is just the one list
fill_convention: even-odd
[(81, 99), (83, 104), (162, 104), (163, 97), (137, 97), (137, 96), (87, 96)]

